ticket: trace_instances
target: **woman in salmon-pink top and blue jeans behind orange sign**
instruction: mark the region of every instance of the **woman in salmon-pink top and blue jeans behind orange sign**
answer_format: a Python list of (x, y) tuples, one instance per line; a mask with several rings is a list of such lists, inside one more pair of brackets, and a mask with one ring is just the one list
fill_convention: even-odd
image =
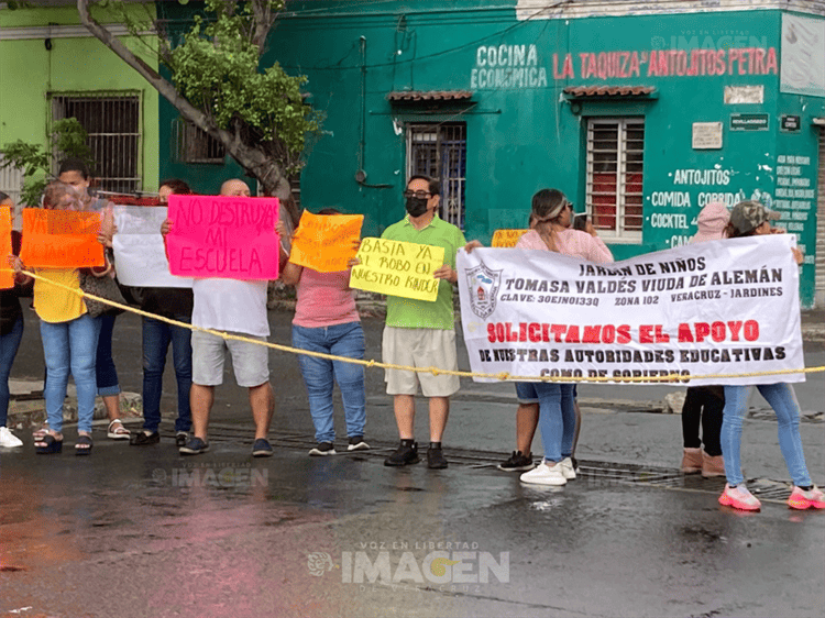
[[(340, 214), (332, 208), (318, 214)], [(282, 232), (283, 233), (283, 232)], [(364, 357), (364, 331), (352, 289), (350, 272), (319, 273), (288, 262), (280, 274), (282, 280), (294, 285), (298, 294), (293, 320), (293, 345), (300, 350), (322, 352), (350, 358)], [(366, 422), (364, 367), (354, 363), (328, 361), (307, 354), (298, 355), (312, 415), (318, 445), (310, 455), (336, 454), (336, 429), (332, 422), (332, 388), (341, 389), (341, 398), (349, 435), (348, 451), (362, 451)]]

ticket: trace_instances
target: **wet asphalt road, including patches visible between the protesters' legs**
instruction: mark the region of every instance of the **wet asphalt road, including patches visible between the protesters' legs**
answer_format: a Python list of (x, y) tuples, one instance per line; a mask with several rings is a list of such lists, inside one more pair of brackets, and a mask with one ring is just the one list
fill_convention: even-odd
[[(271, 318), (272, 339), (288, 341), (289, 316)], [(13, 376), (37, 377), (36, 323), (26, 325)], [(381, 324), (365, 325), (378, 357)], [(127, 390), (140, 391), (139, 332), (119, 319)], [(306, 395), (277, 353), (272, 459), (249, 456), (245, 395), (231, 377), (217, 391), (212, 450), (198, 457), (177, 454), (169, 422), (144, 449), (107, 440), (101, 426), (90, 457), (74, 456), (72, 428), (61, 455), (35, 456), (29, 437), (0, 450), (0, 616), (822, 615), (825, 512), (791, 511), (787, 492), (770, 488), (759, 514), (719, 507), (722, 481), (675, 472), (678, 417), (594, 409), (581, 478), (535, 488), (493, 467), (491, 451), (512, 450), (509, 391), (468, 383), (448, 426), (451, 466), (392, 470), (382, 465), (392, 409), (381, 373), (367, 376), (375, 451), (358, 455), (306, 455)], [(822, 410), (817, 388), (800, 388), (803, 411)], [(776, 423), (754, 419), (748, 435), (746, 475), (785, 479)], [(824, 435), (823, 423), (803, 423), (820, 483)], [(427, 562), (439, 550), (447, 563)]]

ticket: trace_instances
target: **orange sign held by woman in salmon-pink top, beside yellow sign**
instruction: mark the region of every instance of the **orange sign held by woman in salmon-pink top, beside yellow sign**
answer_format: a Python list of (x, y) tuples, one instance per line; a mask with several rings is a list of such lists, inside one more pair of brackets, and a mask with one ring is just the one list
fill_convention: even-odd
[(346, 271), (361, 240), (363, 214), (312, 214), (304, 211), (293, 238), (289, 262), (319, 273)]

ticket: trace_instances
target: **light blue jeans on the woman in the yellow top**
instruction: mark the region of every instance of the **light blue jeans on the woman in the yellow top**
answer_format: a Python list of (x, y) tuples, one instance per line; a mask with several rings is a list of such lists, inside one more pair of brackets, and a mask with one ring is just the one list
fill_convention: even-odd
[(43, 355), (46, 357), (46, 384), (43, 390), (48, 424), (54, 431), (63, 430), (63, 401), (66, 399), (69, 372), (77, 388), (77, 429), (91, 431), (99, 333), (100, 321), (88, 313), (68, 322), (40, 322)]

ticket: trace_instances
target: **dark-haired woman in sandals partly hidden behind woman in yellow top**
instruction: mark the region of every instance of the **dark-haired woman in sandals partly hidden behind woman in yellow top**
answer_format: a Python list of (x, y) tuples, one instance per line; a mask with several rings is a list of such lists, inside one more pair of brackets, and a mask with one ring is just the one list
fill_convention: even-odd
[[(88, 166), (79, 158), (67, 158), (61, 164), (57, 175), (58, 180), (69, 185), (78, 195), (84, 210), (106, 213), (111, 208), (111, 202), (89, 195), (91, 177)], [(113, 229), (105, 230), (106, 246), (111, 247), (111, 234)], [(112, 333), (114, 331), (114, 319), (117, 312), (107, 311), (97, 317), (100, 323), (100, 335), (98, 349), (95, 355), (95, 375), (98, 386), (98, 395), (103, 399), (106, 412), (109, 417), (107, 435), (112, 440), (129, 440), (130, 431), (123, 427), (120, 420), (120, 383), (118, 369), (112, 358)]]

